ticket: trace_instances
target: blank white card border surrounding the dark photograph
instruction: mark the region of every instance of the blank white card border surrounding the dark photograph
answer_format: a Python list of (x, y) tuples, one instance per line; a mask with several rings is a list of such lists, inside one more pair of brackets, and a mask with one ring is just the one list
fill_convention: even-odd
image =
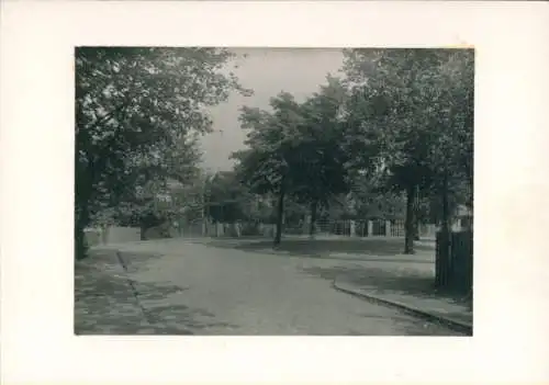
[[(545, 5), (3, 2), (2, 380), (547, 381)], [(77, 45), (474, 46), (474, 337), (75, 337)]]

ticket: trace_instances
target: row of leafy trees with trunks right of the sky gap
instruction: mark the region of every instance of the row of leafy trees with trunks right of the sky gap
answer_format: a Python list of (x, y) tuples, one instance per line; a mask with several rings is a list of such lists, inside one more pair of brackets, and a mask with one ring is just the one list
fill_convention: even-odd
[(473, 52), (344, 55), (345, 78), (328, 76), (306, 101), (281, 92), (270, 111), (242, 109), (248, 148), (234, 154), (235, 172), (250, 192), (277, 196), (274, 246), (287, 197), (310, 206), (312, 233), (318, 207), (334, 196), (404, 195), (404, 252), (412, 253), (425, 199), (440, 211), (445, 234), (452, 203), (472, 207)]

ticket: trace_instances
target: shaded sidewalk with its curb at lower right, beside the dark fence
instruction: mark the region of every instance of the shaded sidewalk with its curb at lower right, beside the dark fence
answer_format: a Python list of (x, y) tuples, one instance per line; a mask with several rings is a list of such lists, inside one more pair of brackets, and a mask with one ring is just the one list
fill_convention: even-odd
[(396, 272), (369, 271), (368, 276), (334, 280), (334, 287), (347, 294), (395, 307), (415, 316), (441, 322), (453, 330), (472, 336), (473, 314), (460, 298), (437, 293), (434, 279)]

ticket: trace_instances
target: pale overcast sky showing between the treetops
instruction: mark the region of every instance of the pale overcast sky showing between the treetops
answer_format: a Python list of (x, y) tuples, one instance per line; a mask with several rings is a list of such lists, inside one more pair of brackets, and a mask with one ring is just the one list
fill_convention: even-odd
[(238, 59), (235, 70), (240, 83), (254, 90), (254, 95), (234, 93), (226, 103), (211, 110), (214, 133), (202, 138), (204, 167), (228, 170), (232, 151), (244, 147), (246, 132), (239, 127), (242, 105), (267, 109), (269, 99), (280, 91), (292, 93), (298, 100), (318, 90), (326, 75), (337, 76), (343, 65), (340, 49), (255, 48), (238, 49), (247, 57)]

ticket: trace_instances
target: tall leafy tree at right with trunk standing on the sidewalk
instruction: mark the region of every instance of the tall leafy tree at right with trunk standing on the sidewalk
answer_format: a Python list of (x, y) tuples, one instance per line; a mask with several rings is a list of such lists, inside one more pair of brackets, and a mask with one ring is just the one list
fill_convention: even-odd
[[(470, 81), (461, 82), (466, 77), (459, 66), (452, 66), (459, 54), (452, 49), (345, 52), (344, 68), (351, 93), (348, 124), (354, 131), (350, 137), (359, 138), (349, 145), (358, 154), (355, 166), (371, 171), (373, 160), (381, 159), (386, 185), (394, 192), (405, 192), (405, 253), (413, 252), (416, 196), (435, 184), (448, 186), (445, 180), (451, 170), (449, 165), (460, 158), (457, 154), (462, 160), (472, 158), (472, 152), (460, 150), (458, 135), (450, 135), (446, 128), (467, 121), (466, 116), (472, 118), (472, 110), (470, 115), (457, 111), (457, 104), (467, 99), (459, 97), (472, 89)], [(468, 148), (472, 150), (472, 146)]]

